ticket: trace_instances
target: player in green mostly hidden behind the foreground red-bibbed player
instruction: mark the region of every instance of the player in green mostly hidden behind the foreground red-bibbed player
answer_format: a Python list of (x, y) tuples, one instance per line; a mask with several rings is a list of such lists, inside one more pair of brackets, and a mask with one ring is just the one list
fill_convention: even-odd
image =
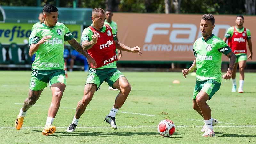
[[(104, 24), (108, 24), (109, 26), (112, 27), (113, 30), (115, 30), (115, 32), (116, 32), (116, 41), (119, 42), (118, 37), (117, 37), (117, 23), (112, 20), (113, 12), (110, 9), (107, 9), (107, 10), (105, 10), (105, 14), (106, 14), (106, 20), (105, 20)], [(116, 49), (116, 54), (117, 54), (117, 58), (121, 59), (122, 51)], [(109, 86), (108, 90), (117, 91), (118, 89), (113, 89), (111, 86)]]

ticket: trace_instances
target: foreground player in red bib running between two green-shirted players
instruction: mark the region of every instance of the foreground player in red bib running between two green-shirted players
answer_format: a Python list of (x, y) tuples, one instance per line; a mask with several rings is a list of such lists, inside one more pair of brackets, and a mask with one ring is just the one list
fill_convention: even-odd
[(73, 132), (76, 129), (80, 116), (84, 113), (86, 106), (92, 100), (94, 92), (105, 81), (109, 86), (120, 90), (116, 96), (114, 106), (105, 121), (110, 127), (116, 127), (116, 113), (124, 104), (128, 94), (131, 91), (131, 85), (126, 77), (116, 69), (116, 48), (122, 51), (141, 54), (138, 46), (130, 48), (116, 41), (116, 33), (109, 26), (105, 25), (106, 15), (103, 9), (95, 8), (92, 10), (92, 25), (85, 28), (82, 33), (82, 46), (88, 54), (95, 59), (97, 65), (90, 65), (89, 74), (84, 87), (84, 96), (76, 107), (76, 113), (73, 121), (67, 128), (67, 132)]

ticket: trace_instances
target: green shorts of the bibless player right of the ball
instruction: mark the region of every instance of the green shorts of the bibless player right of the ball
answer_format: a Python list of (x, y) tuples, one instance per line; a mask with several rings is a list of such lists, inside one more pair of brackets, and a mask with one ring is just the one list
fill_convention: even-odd
[(196, 81), (194, 93), (193, 93), (193, 99), (196, 99), (196, 96), (198, 92), (203, 90), (209, 95), (209, 100), (212, 98), (212, 96), (220, 89), (221, 83), (216, 82), (213, 79), (205, 80), (205, 81)]

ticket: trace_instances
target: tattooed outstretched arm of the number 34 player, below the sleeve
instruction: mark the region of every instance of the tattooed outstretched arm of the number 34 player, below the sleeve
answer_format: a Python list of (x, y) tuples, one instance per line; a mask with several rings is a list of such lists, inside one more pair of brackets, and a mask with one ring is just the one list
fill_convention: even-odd
[(92, 68), (95, 68), (96, 67), (96, 61), (87, 53), (87, 52), (84, 52), (82, 46), (76, 41), (75, 38), (72, 38), (71, 40), (68, 40), (68, 43), (77, 51), (77, 52), (80, 52), (82, 53), (86, 58), (87, 58), (87, 61), (89, 63), (89, 65), (92, 67)]

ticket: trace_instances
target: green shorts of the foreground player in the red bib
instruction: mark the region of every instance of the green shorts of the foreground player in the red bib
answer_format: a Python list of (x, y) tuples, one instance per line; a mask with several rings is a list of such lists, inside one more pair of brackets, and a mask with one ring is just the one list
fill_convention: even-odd
[[(97, 85), (97, 88), (105, 81), (109, 86), (113, 87), (113, 84), (119, 77), (123, 77), (123, 73), (116, 68), (104, 68), (104, 69), (90, 69), (86, 80), (86, 84), (93, 83)], [(113, 87), (114, 88), (114, 87)]]

